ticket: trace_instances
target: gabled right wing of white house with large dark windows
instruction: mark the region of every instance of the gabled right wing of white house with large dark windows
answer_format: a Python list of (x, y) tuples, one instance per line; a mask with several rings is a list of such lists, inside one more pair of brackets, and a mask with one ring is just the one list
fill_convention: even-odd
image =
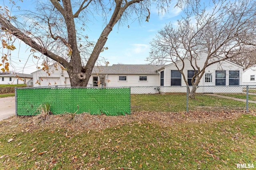
[[(206, 61), (207, 54), (202, 53), (198, 56), (196, 63), (202, 69)], [(182, 62), (176, 62), (178, 68), (182, 68)], [(160, 92), (186, 92), (186, 83), (184, 78), (178, 71), (178, 68), (174, 63), (164, 66), (159, 69), (160, 73)], [(228, 86), (240, 86), (242, 85), (242, 69), (243, 67), (232, 63), (231, 61), (225, 60), (220, 63), (215, 63), (208, 66), (205, 70), (200, 83), (198, 84), (197, 92), (202, 93), (223, 93), (223, 92), (242, 92), (242, 87), (239, 90)], [(187, 80), (194, 76), (194, 70), (188, 59), (184, 59), (184, 70), (185, 77)], [(192, 76), (191, 76), (192, 73)], [(189, 76), (190, 75), (190, 76)], [(189, 82), (189, 81), (188, 81)], [(191, 80), (190, 80), (191, 82)], [(162, 87), (164, 86), (164, 87)], [(200, 86), (204, 86), (201, 87)], [(207, 87), (208, 86), (208, 87)], [(210, 87), (211, 86), (211, 87)]]

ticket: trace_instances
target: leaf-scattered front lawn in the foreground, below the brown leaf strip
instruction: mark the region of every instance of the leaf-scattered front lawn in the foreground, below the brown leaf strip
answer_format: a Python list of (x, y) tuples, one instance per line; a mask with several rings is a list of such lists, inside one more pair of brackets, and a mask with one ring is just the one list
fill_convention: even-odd
[(256, 164), (253, 115), (168, 126), (135, 121), (100, 131), (47, 124), (31, 130), (13, 121), (0, 122), (0, 169), (233, 170), (238, 163)]

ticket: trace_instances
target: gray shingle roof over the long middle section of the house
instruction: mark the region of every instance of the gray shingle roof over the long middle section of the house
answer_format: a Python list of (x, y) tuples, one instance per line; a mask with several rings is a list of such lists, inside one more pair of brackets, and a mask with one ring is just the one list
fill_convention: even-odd
[(164, 65), (151, 64), (113, 64), (112, 66), (94, 66), (92, 74), (158, 74), (156, 70)]

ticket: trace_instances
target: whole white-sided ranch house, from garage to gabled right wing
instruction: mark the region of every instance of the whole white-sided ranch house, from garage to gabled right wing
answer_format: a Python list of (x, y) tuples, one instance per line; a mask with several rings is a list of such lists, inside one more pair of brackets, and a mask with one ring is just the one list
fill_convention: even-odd
[[(197, 64), (200, 68), (204, 65), (206, 56), (202, 53), (198, 57)], [(190, 66), (190, 61), (185, 59), (184, 62), (184, 74), (191, 82), (194, 71)], [(176, 62), (178, 65), (181, 63), (180, 61)], [(242, 69), (242, 66), (227, 60), (210, 65), (206, 68), (198, 86), (214, 86), (214, 88), (199, 88), (197, 92), (242, 92), (242, 88), (234, 90), (234, 88), (228, 87), (241, 85)], [(33, 72), (34, 87), (70, 86), (68, 73), (62, 71), (59, 66), (49, 66), (48, 73), (42, 69)], [(133, 88), (133, 90), (137, 90), (136, 93), (140, 93), (140, 91), (143, 93), (186, 92), (186, 84), (174, 63), (168, 65), (113, 64), (112, 66), (95, 66), (87, 87), (99, 86), (137, 87)], [(143, 86), (152, 87), (139, 88)]]

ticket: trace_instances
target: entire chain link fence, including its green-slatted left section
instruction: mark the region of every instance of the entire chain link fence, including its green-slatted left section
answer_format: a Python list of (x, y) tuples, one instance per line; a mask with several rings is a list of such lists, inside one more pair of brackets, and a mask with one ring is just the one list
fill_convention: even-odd
[[(195, 96), (193, 91), (195, 90)], [(256, 110), (255, 86), (140, 86), (16, 88), (16, 115), (36, 115), (42, 104), (54, 114), (124, 115), (131, 111)]]

